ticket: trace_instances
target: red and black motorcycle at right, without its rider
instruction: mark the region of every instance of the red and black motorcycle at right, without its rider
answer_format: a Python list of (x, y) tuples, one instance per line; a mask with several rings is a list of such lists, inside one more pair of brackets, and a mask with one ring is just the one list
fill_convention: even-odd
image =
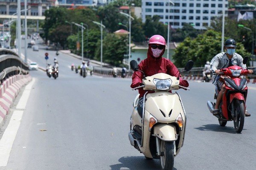
[[(247, 62), (248, 57), (245, 57), (243, 63)], [(247, 79), (244, 76), (249, 74), (248, 70), (242, 70), (240, 66), (230, 66), (221, 69), (221, 78), (224, 79), (224, 92), (222, 102), (219, 105), (219, 114), (214, 115), (218, 118), (221, 126), (225, 126), (227, 121), (233, 121), (237, 133), (240, 133), (244, 127), (244, 112), (246, 109), (247, 97)], [(217, 99), (218, 90), (214, 95)], [(215, 103), (208, 101), (207, 106), (212, 113)]]

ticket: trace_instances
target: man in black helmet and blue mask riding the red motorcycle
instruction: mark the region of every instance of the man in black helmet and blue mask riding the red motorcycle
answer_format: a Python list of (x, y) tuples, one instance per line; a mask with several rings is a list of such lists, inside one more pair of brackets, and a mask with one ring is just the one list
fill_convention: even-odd
[[(213, 115), (218, 115), (219, 113), (219, 105), (222, 101), (223, 96), (223, 88), (224, 88), (224, 79), (220, 78), (219, 73), (221, 72), (220, 69), (227, 68), (230, 65), (238, 65), (243, 70), (246, 69), (246, 65), (243, 64), (243, 57), (241, 55), (235, 53), (236, 51), (236, 41), (233, 39), (227, 39), (224, 43), (224, 51), (222, 53), (217, 54), (215, 57), (212, 58), (210, 62), (210, 69), (212, 72), (215, 72), (212, 76), (212, 84), (215, 85), (215, 89), (218, 89), (218, 96), (216, 100), (216, 105), (214, 110), (212, 111)], [(248, 70), (249, 74), (252, 74), (252, 70)], [(245, 111), (244, 116), (250, 116), (248, 111)]]

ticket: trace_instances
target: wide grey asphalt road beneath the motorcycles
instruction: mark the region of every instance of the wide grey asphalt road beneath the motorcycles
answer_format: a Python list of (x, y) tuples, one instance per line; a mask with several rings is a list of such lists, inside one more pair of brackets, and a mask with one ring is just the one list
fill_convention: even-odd
[[(32, 61), (45, 63), (44, 51), (28, 53)], [(54, 53), (50, 51), (49, 56)], [(159, 170), (159, 160), (146, 160), (128, 140), (137, 95), (130, 88), (131, 79), (82, 78), (70, 69), (73, 57), (60, 54), (58, 61), (57, 79), (43, 71), (30, 72), (35, 82), (8, 164), (0, 170)], [(178, 91), (187, 127), (174, 170), (256, 169), (256, 85), (248, 85), (247, 110), (252, 116), (245, 118), (243, 131), (235, 133), (233, 122), (221, 127), (208, 111), (214, 86), (189, 84), (190, 91)]]

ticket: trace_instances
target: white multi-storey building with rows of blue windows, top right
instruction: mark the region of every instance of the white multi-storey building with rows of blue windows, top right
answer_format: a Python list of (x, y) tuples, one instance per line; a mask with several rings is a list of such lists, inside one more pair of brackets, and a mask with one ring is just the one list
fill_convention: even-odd
[(160, 22), (170, 23), (172, 28), (182, 28), (184, 23), (196, 29), (210, 26), (212, 17), (227, 16), (227, 0), (142, 0), (142, 20), (158, 15)]

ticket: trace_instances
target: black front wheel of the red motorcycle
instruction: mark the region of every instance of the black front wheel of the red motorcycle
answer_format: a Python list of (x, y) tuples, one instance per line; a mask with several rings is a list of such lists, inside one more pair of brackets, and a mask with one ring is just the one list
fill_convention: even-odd
[(236, 133), (240, 133), (244, 128), (244, 102), (242, 100), (235, 99), (234, 101), (234, 113), (233, 118), (234, 127)]

